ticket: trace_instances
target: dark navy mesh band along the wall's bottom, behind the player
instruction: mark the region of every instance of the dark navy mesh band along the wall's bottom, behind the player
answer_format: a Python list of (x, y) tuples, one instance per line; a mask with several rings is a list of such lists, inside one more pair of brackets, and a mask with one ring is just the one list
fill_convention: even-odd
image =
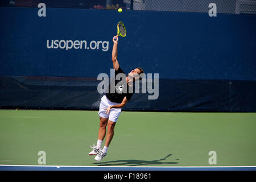
[[(0, 77), (0, 104), (7, 109), (97, 110), (101, 97), (97, 78)], [(123, 110), (256, 111), (255, 81), (159, 80), (156, 93), (134, 93)]]

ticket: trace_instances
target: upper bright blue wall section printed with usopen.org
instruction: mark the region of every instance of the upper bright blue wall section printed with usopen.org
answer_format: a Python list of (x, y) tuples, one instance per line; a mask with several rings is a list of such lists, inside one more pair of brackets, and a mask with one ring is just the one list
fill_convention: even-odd
[[(118, 60), (160, 78), (256, 80), (256, 16), (158, 11), (0, 8), (1, 75), (97, 77), (112, 68), (112, 38), (122, 20)], [(108, 41), (99, 49), (48, 49), (47, 40)]]

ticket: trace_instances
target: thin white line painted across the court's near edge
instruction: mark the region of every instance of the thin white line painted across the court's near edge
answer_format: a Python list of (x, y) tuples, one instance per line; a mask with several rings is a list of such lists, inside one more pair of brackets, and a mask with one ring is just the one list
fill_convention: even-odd
[(247, 168), (256, 166), (45, 166), (45, 165), (5, 165), (7, 167), (90, 167), (90, 168)]

